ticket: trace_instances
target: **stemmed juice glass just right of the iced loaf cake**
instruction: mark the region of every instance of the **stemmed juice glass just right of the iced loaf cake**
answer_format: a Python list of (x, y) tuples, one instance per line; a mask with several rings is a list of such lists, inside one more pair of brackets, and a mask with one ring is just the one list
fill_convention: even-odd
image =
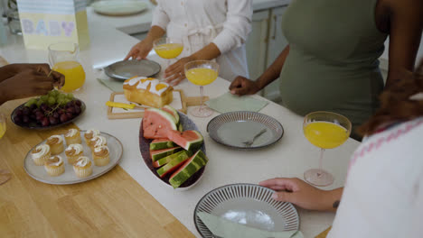
[(210, 60), (195, 60), (185, 64), (185, 77), (194, 85), (200, 86), (200, 95), (202, 104), (195, 107), (191, 114), (196, 117), (207, 117), (213, 114), (213, 111), (204, 105), (204, 92), (202, 86), (211, 84), (219, 75), (219, 65)]

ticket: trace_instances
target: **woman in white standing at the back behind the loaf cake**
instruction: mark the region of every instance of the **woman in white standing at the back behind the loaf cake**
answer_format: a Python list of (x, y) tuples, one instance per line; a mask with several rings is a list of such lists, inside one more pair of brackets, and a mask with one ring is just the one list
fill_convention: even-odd
[(216, 59), (221, 78), (248, 77), (245, 41), (251, 18), (252, 0), (158, 0), (146, 39), (125, 59), (145, 59), (153, 41), (166, 33), (183, 41), (182, 58), (164, 70), (167, 82), (179, 84), (185, 78), (183, 66), (198, 59)]

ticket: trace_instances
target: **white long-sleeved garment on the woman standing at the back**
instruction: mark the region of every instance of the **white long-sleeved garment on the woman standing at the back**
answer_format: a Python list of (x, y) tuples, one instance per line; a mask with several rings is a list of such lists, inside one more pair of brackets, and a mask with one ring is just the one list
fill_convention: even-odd
[(183, 41), (181, 57), (213, 42), (221, 56), (219, 76), (249, 78), (245, 41), (251, 32), (252, 0), (158, 0), (152, 25)]

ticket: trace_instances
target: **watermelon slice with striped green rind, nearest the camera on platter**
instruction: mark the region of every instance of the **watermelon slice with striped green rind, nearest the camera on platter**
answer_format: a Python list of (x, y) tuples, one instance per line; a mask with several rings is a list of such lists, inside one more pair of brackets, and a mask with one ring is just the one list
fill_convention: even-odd
[(169, 183), (174, 188), (180, 187), (188, 178), (191, 178), (194, 173), (202, 169), (209, 161), (205, 154), (199, 150), (190, 159), (185, 160), (183, 165), (177, 169), (169, 178)]

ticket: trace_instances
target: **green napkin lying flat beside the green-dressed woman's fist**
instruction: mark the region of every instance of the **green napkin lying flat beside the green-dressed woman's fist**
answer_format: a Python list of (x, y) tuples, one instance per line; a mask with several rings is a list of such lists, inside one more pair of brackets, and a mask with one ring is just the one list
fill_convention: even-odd
[(223, 114), (233, 111), (258, 112), (261, 108), (268, 105), (268, 102), (258, 100), (252, 96), (235, 96), (225, 93), (207, 101), (205, 104)]

